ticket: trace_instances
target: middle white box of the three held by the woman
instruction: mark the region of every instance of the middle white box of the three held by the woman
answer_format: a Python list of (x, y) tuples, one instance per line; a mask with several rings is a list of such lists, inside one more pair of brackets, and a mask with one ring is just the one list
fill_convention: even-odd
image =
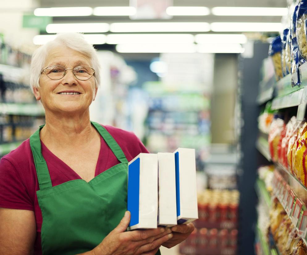
[(158, 183), (158, 225), (172, 227), (177, 224), (174, 153), (158, 153)]

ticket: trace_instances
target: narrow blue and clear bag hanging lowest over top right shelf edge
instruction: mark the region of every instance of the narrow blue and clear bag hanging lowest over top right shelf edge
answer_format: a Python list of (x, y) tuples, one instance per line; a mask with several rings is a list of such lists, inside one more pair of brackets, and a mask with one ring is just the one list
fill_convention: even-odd
[(291, 84), (292, 87), (301, 84), (300, 74), (299, 74), (299, 51), (297, 45), (296, 36), (296, 20), (298, 14), (299, 6), (295, 6), (292, 18), (291, 18)]

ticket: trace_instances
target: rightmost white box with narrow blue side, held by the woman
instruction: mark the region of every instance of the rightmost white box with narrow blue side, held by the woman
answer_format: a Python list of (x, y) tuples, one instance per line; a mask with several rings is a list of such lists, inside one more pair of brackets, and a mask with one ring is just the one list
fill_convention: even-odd
[(177, 224), (198, 219), (195, 149), (178, 148), (175, 152)]

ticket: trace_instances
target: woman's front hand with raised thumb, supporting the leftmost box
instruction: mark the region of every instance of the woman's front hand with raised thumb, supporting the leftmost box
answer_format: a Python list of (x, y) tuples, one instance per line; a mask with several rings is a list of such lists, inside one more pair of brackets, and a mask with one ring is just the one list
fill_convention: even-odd
[(173, 237), (170, 229), (146, 229), (126, 231), (130, 212), (126, 212), (120, 224), (92, 250), (95, 255), (154, 255), (162, 243)]

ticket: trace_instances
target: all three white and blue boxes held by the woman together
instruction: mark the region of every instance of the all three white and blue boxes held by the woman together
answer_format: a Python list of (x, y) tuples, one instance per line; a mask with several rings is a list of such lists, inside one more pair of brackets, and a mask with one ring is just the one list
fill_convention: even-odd
[(128, 230), (187, 224), (198, 218), (195, 150), (140, 153), (128, 166)]

